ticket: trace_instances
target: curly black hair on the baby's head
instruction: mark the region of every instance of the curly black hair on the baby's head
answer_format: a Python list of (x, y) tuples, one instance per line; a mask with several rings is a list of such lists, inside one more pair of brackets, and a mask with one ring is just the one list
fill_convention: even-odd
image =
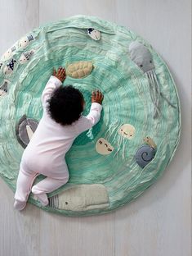
[(71, 125), (81, 116), (83, 102), (83, 94), (73, 85), (60, 85), (47, 100), (47, 112), (60, 125)]

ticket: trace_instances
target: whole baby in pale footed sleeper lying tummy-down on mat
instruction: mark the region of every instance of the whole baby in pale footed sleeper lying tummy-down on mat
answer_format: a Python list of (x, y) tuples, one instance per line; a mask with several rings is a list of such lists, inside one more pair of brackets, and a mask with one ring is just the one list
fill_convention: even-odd
[[(17, 210), (25, 208), (31, 191), (43, 206), (48, 204), (47, 193), (69, 181), (65, 153), (78, 135), (100, 120), (103, 94), (92, 92), (92, 106), (85, 117), (83, 94), (72, 85), (61, 86), (64, 80), (65, 68), (54, 69), (42, 92), (42, 119), (20, 162), (14, 203)], [(39, 174), (47, 177), (33, 185)]]

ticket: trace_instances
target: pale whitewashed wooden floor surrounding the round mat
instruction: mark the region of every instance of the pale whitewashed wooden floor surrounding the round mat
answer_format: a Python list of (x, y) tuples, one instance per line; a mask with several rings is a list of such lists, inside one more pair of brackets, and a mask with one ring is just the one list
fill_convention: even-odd
[(38, 25), (77, 14), (124, 25), (163, 57), (181, 98), (181, 144), (156, 184), (103, 216), (64, 217), (31, 204), (16, 213), (13, 192), (0, 179), (0, 255), (190, 256), (191, 2), (0, 0), (0, 53)]

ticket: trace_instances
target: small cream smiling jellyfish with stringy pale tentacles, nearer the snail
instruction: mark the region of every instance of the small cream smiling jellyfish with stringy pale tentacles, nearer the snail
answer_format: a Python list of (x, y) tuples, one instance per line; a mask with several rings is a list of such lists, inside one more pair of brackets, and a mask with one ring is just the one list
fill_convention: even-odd
[(111, 144), (117, 144), (117, 151), (114, 153), (114, 157), (118, 156), (118, 152), (122, 149), (122, 160), (124, 160), (127, 141), (133, 139), (135, 133), (136, 129), (131, 124), (122, 124), (119, 121), (114, 121), (109, 125), (108, 130), (105, 132), (105, 139), (109, 141), (113, 137)]

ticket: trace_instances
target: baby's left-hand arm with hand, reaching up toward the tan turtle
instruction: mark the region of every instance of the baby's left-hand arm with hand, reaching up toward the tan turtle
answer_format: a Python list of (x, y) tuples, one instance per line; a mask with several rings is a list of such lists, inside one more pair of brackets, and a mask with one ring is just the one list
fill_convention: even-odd
[(45, 107), (47, 100), (51, 98), (52, 92), (62, 85), (65, 80), (65, 68), (60, 67), (58, 71), (54, 69), (53, 74), (47, 82), (47, 85), (42, 91), (42, 106)]

